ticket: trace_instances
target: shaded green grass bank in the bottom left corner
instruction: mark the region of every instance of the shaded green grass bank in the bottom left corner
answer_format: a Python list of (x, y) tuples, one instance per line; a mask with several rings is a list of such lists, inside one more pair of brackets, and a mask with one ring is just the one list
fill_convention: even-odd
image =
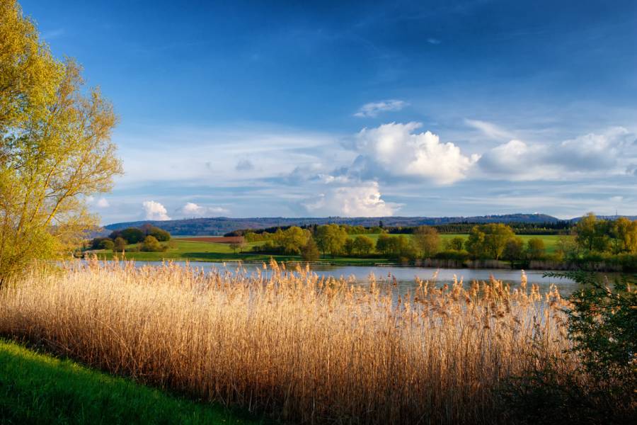
[(0, 339), (0, 424), (257, 424)]

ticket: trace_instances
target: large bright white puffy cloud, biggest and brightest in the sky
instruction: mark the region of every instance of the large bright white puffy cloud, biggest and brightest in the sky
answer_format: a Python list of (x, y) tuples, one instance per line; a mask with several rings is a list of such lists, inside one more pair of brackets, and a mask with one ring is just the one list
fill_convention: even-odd
[(390, 176), (412, 176), (440, 184), (464, 179), (478, 155), (468, 157), (453, 143), (440, 142), (432, 132), (414, 133), (421, 126), (390, 123), (361, 130), (357, 135), (360, 157), (354, 166), (366, 173), (380, 167)]

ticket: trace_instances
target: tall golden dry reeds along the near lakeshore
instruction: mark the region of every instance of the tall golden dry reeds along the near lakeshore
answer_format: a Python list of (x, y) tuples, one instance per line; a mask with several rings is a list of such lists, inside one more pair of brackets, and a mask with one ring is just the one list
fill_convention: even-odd
[[(566, 356), (564, 301), (498, 280), (436, 287), (69, 263), (4, 288), (0, 333), (112, 373), (304, 423), (493, 423), (496, 389)], [(565, 363), (577, 368), (575, 359)]]

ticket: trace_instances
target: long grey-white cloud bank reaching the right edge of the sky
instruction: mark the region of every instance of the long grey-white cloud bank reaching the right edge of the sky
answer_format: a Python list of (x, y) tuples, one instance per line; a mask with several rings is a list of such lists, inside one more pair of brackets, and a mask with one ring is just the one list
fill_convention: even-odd
[(626, 162), (637, 159), (636, 139), (625, 128), (611, 128), (557, 145), (510, 140), (485, 152), (479, 165), (488, 174), (504, 174), (517, 180), (626, 174)]

